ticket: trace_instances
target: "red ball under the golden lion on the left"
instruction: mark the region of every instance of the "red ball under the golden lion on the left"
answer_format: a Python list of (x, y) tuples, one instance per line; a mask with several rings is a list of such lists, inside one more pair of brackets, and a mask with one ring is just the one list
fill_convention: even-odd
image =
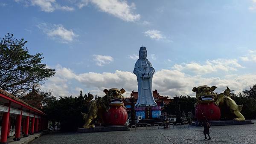
[(106, 125), (124, 125), (127, 117), (127, 112), (123, 107), (111, 107), (108, 112), (105, 112), (103, 120)]

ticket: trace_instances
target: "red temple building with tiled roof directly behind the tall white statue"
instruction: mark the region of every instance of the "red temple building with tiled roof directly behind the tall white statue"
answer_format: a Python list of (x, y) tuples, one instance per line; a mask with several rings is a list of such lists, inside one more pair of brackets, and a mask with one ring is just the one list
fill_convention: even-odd
[[(168, 99), (169, 96), (159, 95), (159, 93), (157, 92), (156, 89), (153, 91), (153, 97), (154, 97), (154, 100), (157, 103), (157, 107), (159, 107), (161, 110), (163, 110), (165, 104), (169, 104), (171, 101), (173, 101), (173, 99)], [(137, 99), (138, 99), (138, 92), (132, 91), (130, 97), (125, 98), (125, 100), (124, 100), (124, 105), (127, 108), (126, 111), (128, 113), (128, 119), (130, 119), (130, 120), (131, 120), (132, 110), (135, 107), (134, 105), (136, 104)], [(149, 117), (145, 117), (145, 119), (151, 119), (152, 118), (152, 113), (148, 113), (147, 115)], [(144, 117), (143, 117), (143, 119), (144, 119)]]

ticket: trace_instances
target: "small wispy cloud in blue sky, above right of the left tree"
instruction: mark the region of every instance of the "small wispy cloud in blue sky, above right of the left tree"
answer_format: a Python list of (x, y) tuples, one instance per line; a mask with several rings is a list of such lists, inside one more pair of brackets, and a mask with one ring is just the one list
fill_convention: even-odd
[(47, 23), (40, 23), (37, 25), (37, 27), (43, 30), (43, 32), (46, 33), (49, 37), (57, 39), (61, 43), (72, 42), (74, 38), (78, 36), (73, 32), (72, 29), (65, 29), (61, 24), (52, 25)]

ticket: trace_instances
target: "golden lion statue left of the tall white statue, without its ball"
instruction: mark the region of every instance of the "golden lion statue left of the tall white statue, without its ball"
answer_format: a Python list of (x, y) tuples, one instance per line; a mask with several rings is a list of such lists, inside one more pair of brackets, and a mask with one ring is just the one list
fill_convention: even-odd
[[(105, 92), (104, 97), (98, 97), (96, 100), (90, 101), (87, 108), (88, 114), (82, 113), (84, 119), (83, 128), (93, 128), (94, 124), (91, 122), (98, 118), (101, 122), (103, 121), (102, 115), (104, 112), (108, 112), (111, 105), (114, 106), (123, 106), (122, 100), (124, 97), (122, 96), (125, 93), (125, 89), (104, 89)], [(124, 106), (123, 106), (124, 107)]]

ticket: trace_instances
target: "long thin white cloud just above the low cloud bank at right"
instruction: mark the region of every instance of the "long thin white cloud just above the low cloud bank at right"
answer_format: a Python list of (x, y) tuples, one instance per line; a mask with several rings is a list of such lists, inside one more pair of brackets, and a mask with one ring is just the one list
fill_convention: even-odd
[(178, 71), (186, 70), (189, 72), (194, 72), (195, 74), (207, 74), (217, 72), (219, 70), (224, 72), (236, 71), (238, 68), (243, 68), (243, 66), (241, 66), (236, 59), (207, 60), (206, 64), (204, 65), (196, 62), (190, 62), (175, 64), (173, 66), (173, 69)]

